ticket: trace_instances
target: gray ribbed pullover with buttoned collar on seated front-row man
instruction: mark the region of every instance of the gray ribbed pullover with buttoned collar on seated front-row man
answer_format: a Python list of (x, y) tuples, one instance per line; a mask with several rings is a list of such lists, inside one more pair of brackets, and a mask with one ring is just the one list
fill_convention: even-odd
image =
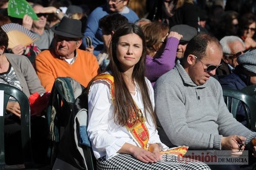
[(197, 86), (179, 61), (158, 79), (154, 91), (155, 111), (163, 127), (158, 133), (169, 147), (221, 150), (222, 136), (245, 136), (245, 143), (256, 137), (256, 132), (248, 130), (228, 111), (215, 78)]

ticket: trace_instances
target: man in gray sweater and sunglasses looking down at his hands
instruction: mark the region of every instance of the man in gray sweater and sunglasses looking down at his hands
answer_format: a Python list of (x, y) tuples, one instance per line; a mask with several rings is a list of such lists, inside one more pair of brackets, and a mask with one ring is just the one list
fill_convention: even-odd
[[(154, 85), (158, 134), (168, 147), (192, 150), (231, 150), (239, 156), (256, 137), (236, 121), (223, 100), (222, 87), (211, 77), (221, 65), (222, 47), (210, 34), (199, 34), (187, 45), (182, 63), (161, 76)], [(235, 135), (236, 134), (236, 135)], [(238, 139), (238, 138), (239, 139)], [(237, 141), (237, 142), (236, 142)], [(211, 169), (239, 169), (239, 165), (208, 165)]]

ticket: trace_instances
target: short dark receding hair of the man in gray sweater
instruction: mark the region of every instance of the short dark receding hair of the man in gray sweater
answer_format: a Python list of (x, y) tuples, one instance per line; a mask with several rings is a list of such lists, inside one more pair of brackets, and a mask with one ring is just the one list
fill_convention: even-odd
[(189, 54), (195, 55), (197, 60), (201, 60), (206, 55), (206, 48), (210, 43), (214, 43), (222, 49), (219, 40), (211, 34), (198, 34), (192, 38), (186, 47), (184, 52), (184, 59), (188, 57)]

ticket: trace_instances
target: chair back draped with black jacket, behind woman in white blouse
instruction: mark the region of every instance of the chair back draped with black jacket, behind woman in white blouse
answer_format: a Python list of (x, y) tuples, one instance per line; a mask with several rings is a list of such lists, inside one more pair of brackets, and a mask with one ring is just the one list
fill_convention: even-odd
[[(74, 108), (72, 109), (71, 116), (64, 134), (60, 139), (59, 144), (59, 157), (66, 165), (72, 165), (77, 169), (96, 169), (96, 159), (91, 147), (80, 143), (80, 125), (87, 125), (88, 117), (88, 105), (86, 89), (83, 90), (78, 98), (74, 102)], [(84, 134), (85, 133), (85, 134)], [(87, 136), (87, 132), (83, 134)], [(57, 161), (54, 163), (54, 169), (59, 169), (63, 163)]]

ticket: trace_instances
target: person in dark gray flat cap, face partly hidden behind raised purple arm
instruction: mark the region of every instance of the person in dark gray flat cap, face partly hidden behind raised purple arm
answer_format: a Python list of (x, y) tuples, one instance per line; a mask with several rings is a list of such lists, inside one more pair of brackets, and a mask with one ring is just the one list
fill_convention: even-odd
[(194, 27), (180, 24), (180, 25), (171, 27), (170, 31), (178, 32), (178, 34), (181, 34), (183, 36), (180, 39), (180, 42), (177, 48), (177, 53), (176, 53), (177, 58), (183, 58), (187, 44), (189, 40), (191, 40), (194, 36), (197, 35), (197, 30)]

